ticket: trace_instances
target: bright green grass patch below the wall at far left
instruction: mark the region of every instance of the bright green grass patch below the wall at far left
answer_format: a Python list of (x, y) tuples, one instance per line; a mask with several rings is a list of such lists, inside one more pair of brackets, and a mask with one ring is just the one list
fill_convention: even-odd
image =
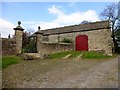
[(22, 59), (17, 56), (3, 56), (2, 57), (2, 69), (7, 68), (10, 65), (19, 63)]

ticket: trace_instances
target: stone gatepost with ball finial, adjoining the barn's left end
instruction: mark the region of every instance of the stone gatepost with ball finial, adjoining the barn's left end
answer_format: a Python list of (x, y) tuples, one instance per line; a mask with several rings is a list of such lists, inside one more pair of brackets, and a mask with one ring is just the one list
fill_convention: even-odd
[(40, 26), (38, 27), (38, 31), (35, 33), (36, 34), (36, 41), (37, 41), (37, 53), (40, 53), (42, 56), (42, 38), (43, 38), (43, 33), (40, 32)]

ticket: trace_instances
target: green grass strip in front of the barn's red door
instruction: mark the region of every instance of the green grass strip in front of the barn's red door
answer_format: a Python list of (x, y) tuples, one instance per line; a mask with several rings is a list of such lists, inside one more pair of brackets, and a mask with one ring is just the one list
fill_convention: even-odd
[(57, 58), (62, 58), (65, 57), (66, 55), (71, 54), (69, 58), (76, 58), (79, 55), (82, 54), (83, 59), (107, 59), (107, 58), (112, 58), (113, 56), (108, 56), (96, 52), (91, 52), (91, 51), (66, 51), (66, 52), (60, 52), (60, 53), (53, 53), (50, 55), (52, 59), (57, 59)]

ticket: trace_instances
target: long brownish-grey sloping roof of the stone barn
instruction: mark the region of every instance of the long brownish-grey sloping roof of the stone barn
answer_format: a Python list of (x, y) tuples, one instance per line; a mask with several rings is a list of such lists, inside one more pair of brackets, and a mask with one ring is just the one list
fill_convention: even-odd
[(98, 21), (91, 22), (87, 24), (71, 25), (60, 28), (52, 28), (46, 30), (39, 30), (36, 33), (43, 33), (43, 35), (52, 35), (52, 34), (63, 34), (71, 32), (82, 32), (82, 31), (91, 31), (98, 29), (107, 29), (110, 28), (110, 21)]

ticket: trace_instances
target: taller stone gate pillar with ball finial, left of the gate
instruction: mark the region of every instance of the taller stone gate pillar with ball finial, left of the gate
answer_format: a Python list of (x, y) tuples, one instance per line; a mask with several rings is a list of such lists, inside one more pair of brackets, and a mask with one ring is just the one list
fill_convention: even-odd
[(15, 30), (15, 42), (16, 42), (16, 54), (21, 54), (22, 52), (22, 36), (23, 28), (20, 26), (21, 22), (18, 21), (18, 26), (13, 28)]

